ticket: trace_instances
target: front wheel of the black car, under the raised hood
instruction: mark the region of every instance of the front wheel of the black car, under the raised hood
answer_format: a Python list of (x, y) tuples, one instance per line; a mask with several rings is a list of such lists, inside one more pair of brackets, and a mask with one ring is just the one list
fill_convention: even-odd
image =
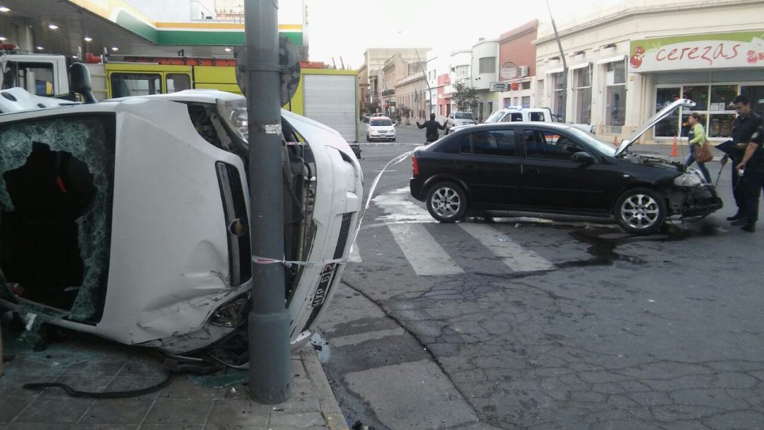
[(629, 189), (616, 202), (615, 218), (627, 233), (655, 233), (666, 218), (665, 200), (652, 189)]

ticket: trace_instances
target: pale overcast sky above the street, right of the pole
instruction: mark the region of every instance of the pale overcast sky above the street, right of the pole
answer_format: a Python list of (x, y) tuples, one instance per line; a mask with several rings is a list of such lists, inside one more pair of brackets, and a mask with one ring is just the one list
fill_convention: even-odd
[[(290, 0), (280, 0), (280, 3)], [(623, 0), (549, 0), (558, 27)], [(357, 69), (370, 47), (430, 47), (439, 52), (470, 49), (479, 37), (501, 33), (533, 19), (549, 22), (545, 2), (507, 0), (306, 0), (310, 60)]]

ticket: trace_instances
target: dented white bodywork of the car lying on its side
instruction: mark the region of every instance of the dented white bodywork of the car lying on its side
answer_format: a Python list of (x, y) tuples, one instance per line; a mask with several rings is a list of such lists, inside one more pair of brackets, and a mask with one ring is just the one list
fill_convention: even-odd
[[(213, 105), (216, 99), (238, 97), (215, 91), (170, 96)], [(17, 121), (87, 112), (115, 118), (112, 207), (110, 214), (101, 213), (110, 231), (104, 254), (108, 282), (100, 286), (98, 304), (102, 312), (97, 321), (82, 321), (72, 318), (76, 309), (51, 310), (23, 296), (0, 295), (5, 297), (0, 304), (56, 325), (174, 354), (225, 338), (237, 328), (211, 324), (210, 317), (245, 295), (251, 280), (230, 284), (229, 233), (215, 166), (225, 163), (238, 170), (248, 208), (243, 161), (205, 141), (187, 106), (167, 96), (0, 115), (0, 131)], [(336, 131), (288, 112), (284, 118), (305, 137), (316, 163), (316, 234), (307, 259), (315, 267), (303, 267), (288, 306), (290, 341), (297, 347), (312, 335), (342, 275), (357, 230), (363, 185), (358, 160)], [(8, 284), (2, 279), (0, 287)]]

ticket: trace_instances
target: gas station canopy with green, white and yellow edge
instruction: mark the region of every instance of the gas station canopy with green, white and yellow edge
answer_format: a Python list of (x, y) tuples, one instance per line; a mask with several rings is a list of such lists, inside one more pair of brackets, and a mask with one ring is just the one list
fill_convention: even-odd
[[(231, 58), (244, 44), (244, 23), (203, 20), (160, 22), (123, 0), (0, 0), (2, 44), (19, 44), (31, 30), (35, 52)], [(303, 24), (279, 30), (303, 46)]]

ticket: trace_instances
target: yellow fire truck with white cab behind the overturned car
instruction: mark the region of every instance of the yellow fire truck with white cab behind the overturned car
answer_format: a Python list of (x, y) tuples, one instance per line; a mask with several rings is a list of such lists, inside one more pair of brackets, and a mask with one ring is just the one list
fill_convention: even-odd
[[(128, 95), (168, 94), (183, 89), (219, 89), (241, 94), (236, 82), (235, 60), (196, 57), (129, 57), (102, 62), (83, 58), (92, 79), (95, 99)], [(24, 87), (37, 95), (70, 95), (66, 58), (60, 55), (18, 53), (0, 47), (2, 88)], [(358, 71), (332, 70), (323, 63), (300, 64), (297, 91), (286, 110), (334, 128), (346, 141), (357, 144)]]

